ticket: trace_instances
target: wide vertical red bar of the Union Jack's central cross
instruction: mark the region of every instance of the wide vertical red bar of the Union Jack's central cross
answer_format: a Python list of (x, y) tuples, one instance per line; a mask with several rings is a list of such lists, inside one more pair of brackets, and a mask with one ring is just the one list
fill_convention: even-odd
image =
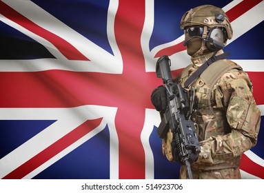
[(128, 87), (121, 92), (127, 92), (125, 98), (129, 99), (126, 103), (119, 102), (115, 120), (119, 136), (119, 179), (145, 179), (145, 153), (141, 143), (145, 105), (137, 104), (150, 100), (150, 95), (147, 96), (150, 93), (141, 92), (141, 88), (147, 87), (142, 85), (146, 75), (141, 48), (144, 20), (144, 1), (119, 1), (114, 32), (123, 59), (123, 81)]

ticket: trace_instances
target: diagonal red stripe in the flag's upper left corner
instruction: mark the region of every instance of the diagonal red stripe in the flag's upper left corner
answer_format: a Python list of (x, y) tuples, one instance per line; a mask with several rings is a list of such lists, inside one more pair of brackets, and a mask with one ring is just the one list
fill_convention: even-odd
[(4, 17), (14, 21), (15, 23), (19, 24), (19, 26), (22, 26), (23, 28), (26, 28), (34, 34), (42, 37), (43, 39), (50, 41), (50, 43), (52, 43), (67, 59), (89, 61), (87, 57), (81, 54), (81, 52), (74, 48), (74, 46), (68, 41), (65, 41), (56, 34), (41, 28), (41, 26), (38, 26), (36, 23), (30, 21), (30, 19), (10, 8), (10, 6), (6, 5), (6, 3), (3, 3), (3, 1), (0, 1), (0, 12)]

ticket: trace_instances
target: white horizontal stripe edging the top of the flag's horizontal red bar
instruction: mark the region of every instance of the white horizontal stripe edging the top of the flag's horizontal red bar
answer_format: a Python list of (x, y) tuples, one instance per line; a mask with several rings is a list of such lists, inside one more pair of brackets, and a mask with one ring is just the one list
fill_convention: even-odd
[[(186, 67), (190, 63), (190, 57), (186, 52), (178, 52), (170, 57), (173, 61), (171, 69), (178, 70)], [(264, 72), (264, 60), (252, 59), (232, 59), (241, 65), (245, 72)], [(70, 70), (72, 72), (105, 72), (116, 73), (116, 70), (109, 66), (104, 68), (101, 65), (90, 65), (87, 61), (61, 61), (57, 59), (34, 59), (34, 60), (1, 60), (0, 72), (37, 72), (43, 70), (59, 69)], [(156, 63), (152, 63), (156, 66)]]

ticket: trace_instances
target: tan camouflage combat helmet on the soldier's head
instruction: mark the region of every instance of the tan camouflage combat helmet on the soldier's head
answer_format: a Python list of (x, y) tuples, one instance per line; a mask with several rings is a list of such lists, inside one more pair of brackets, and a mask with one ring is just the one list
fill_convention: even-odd
[(221, 8), (211, 5), (199, 6), (183, 14), (181, 30), (188, 26), (223, 27), (227, 32), (227, 39), (232, 39), (233, 30), (230, 21)]

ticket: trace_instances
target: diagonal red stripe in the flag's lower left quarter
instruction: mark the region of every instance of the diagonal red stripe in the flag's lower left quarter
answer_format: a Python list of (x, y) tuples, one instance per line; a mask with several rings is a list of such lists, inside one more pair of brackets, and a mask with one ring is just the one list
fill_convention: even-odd
[(72, 132), (69, 132), (61, 139), (50, 145), (48, 148), (45, 148), (45, 150), (39, 152), (39, 154), (32, 157), (32, 159), (17, 167), (16, 170), (13, 170), (12, 172), (4, 176), (3, 179), (23, 178), (46, 161), (52, 159), (53, 156), (56, 156), (57, 154), (59, 154), (59, 152), (65, 150), (65, 148), (68, 148), (70, 145), (72, 145), (72, 143), (81, 139), (81, 137), (85, 136), (85, 134), (88, 134), (94, 128), (97, 128), (101, 121), (102, 118), (85, 121), (85, 123), (81, 124), (78, 128), (72, 130)]

